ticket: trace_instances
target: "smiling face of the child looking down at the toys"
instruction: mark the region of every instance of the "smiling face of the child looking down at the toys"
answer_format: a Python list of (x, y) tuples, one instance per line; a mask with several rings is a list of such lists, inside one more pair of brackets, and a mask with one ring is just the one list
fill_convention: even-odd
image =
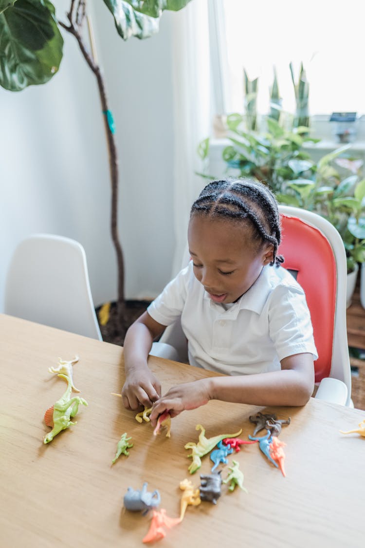
[(244, 223), (193, 215), (188, 242), (195, 277), (214, 302), (235, 302), (273, 260), (273, 246), (252, 242)]

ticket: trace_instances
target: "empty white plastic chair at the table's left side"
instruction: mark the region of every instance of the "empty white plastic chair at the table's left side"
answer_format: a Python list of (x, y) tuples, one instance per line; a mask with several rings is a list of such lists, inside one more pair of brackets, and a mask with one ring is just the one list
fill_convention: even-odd
[(4, 312), (102, 340), (83, 246), (51, 234), (22, 240), (7, 272)]

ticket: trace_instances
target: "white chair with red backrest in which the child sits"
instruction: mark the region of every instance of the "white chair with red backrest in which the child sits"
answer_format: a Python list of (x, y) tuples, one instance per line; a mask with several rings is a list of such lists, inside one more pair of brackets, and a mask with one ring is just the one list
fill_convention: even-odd
[[(343, 241), (331, 223), (316, 213), (289, 206), (279, 206), (282, 242), (279, 254), (284, 265), (295, 273), (308, 302), (318, 350), (315, 362), (317, 399), (353, 406), (351, 368), (346, 330), (346, 253)], [(183, 264), (189, 260), (184, 254)], [(159, 346), (163, 343), (163, 346)], [(187, 341), (181, 323), (165, 329), (151, 353), (187, 361)]]

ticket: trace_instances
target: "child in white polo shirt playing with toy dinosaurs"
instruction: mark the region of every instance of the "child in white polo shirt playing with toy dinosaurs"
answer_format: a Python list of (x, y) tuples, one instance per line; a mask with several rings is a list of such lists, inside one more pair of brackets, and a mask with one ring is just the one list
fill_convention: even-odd
[[(127, 409), (151, 406), (155, 426), (210, 399), (258, 406), (303, 406), (317, 358), (303, 289), (280, 266), (280, 218), (273, 193), (250, 179), (213, 181), (190, 213), (192, 260), (128, 329)], [(181, 317), (189, 363), (230, 376), (172, 387), (161, 397), (147, 366), (153, 339)]]

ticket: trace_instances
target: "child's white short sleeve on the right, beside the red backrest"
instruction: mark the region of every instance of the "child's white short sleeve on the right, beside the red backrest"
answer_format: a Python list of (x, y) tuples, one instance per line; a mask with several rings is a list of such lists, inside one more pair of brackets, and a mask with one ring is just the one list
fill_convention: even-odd
[(310, 312), (302, 288), (279, 286), (270, 300), (269, 334), (279, 360), (304, 352), (316, 360)]

